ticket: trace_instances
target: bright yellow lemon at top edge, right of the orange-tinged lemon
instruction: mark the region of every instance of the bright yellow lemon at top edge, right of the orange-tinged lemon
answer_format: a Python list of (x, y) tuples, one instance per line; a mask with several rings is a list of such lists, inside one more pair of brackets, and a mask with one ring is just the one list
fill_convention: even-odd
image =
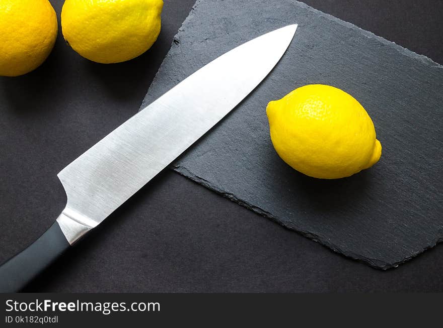
[(162, 8), (162, 0), (66, 0), (61, 29), (83, 57), (119, 63), (151, 48), (160, 33)]

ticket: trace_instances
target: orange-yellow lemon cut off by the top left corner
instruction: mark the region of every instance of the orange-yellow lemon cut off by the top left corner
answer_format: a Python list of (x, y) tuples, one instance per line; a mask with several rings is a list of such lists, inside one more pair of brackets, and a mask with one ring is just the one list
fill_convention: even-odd
[(23, 75), (40, 66), (57, 29), (48, 0), (0, 0), (0, 75)]

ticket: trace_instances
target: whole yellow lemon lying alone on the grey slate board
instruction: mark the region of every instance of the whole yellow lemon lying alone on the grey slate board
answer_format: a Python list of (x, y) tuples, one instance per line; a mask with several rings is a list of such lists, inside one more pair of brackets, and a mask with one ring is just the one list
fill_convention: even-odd
[(363, 106), (333, 86), (302, 86), (269, 102), (266, 114), (278, 155), (306, 175), (347, 177), (373, 166), (382, 154)]

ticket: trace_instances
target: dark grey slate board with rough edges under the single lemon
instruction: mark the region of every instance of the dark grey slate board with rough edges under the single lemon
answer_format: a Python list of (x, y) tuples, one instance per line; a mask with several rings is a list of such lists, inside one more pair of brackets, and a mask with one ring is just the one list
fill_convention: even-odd
[[(336, 252), (396, 267), (443, 240), (442, 66), (296, 1), (201, 0), (141, 108), (226, 51), (293, 23), (296, 37), (271, 74), (173, 168)], [(310, 83), (366, 108), (383, 146), (376, 166), (319, 180), (277, 156), (266, 104)]]

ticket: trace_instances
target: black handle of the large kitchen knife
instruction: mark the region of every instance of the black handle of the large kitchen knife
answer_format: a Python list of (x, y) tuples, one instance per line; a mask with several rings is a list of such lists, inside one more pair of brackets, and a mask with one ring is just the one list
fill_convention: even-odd
[(0, 266), (0, 292), (18, 292), (69, 248), (57, 222), (27, 249)]

